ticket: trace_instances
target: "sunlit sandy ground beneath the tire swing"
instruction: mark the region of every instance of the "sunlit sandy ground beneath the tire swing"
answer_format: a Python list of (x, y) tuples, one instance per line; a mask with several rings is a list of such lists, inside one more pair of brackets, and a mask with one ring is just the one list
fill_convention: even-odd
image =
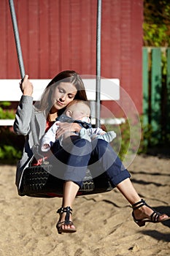
[[(137, 156), (128, 168), (147, 203), (170, 215), (170, 159)], [(131, 207), (117, 191), (77, 197), (77, 233), (58, 235), (61, 198), (19, 197), (15, 167), (0, 166), (1, 256), (170, 255), (170, 221), (138, 227)]]

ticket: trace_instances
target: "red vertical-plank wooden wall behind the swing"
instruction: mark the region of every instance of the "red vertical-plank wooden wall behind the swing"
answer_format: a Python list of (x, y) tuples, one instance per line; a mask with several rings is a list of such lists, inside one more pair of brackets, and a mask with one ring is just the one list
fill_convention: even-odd
[[(97, 0), (14, 0), (26, 73), (96, 75)], [(0, 0), (0, 79), (20, 78), (7, 0)], [(142, 0), (103, 0), (101, 76), (119, 78), (142, 113)], [(121, 95), (120, 95), (121, 97)], [(123, 99), (122, 99), (123, 100)], [(104, 102), (112, 112), (115, 105)]]

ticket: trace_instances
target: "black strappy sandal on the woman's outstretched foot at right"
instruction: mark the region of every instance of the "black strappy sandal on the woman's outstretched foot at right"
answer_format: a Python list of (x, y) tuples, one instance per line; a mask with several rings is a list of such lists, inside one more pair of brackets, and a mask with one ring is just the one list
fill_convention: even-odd
[[(150, 209), (152, 209), (152, 214), (150, 215), (149, 218), (144, 218), (144, 219), (136, 219), (134, 217), (134, 211), (142, 206), (147, 206), (149, 207)], [(134, 218), (134, 222), (136, 222), (137, 225), (139, 225), (139, 227), (143, 227), (145, 225), (146, 222), (152, 222), (152, 223), (158, 223), (158, 222), (164, 222), (168, 219), (170, 219), (170, 217), (167, 217), (166, 219), (162, 219), (162, 220), (159, 220), (159, 217), (163, 214), (159, 213), (158, 211), (155, 211), (155, 209), (153, 209), (152, 207), (148, 206), (147, 203), (142, 199), (140, 200), (139, 202), (137, 203), (134, 203), (132, 205), (132, 208), (133, 208), (133, 212), (132, 212), (132, 217)]]

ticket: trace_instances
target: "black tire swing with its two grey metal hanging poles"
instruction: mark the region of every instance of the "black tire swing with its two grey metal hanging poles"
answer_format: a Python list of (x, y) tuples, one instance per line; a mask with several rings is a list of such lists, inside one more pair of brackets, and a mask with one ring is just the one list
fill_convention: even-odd
[[(12, 26), (15, 36), (15, 44), (18, 53), (18, 63), (20, 67), (21, 79), (25, 75), (25, 69), (23, 65), (22, 50), (20, 47), (20, 37), (18, 33), (18, 23), (15, 15), (15, 7), (13, 0), (9, 0), (9, 7), (12, 17)], [(101, 0), (98, 0), (98, 20), (97, 20), (97, 78), (100, 78), (100, 40), (101, 40)], [(99, 61), (98, 61), (99, 60)], [(97, 80), (100, 83), (100, 80)], [(98, 86), (98, 85), (97, 85)], [(97, 89), (98, 91), (98, 89)], [(96, 96), (97, 97), (97, 96)], [(98, 96), (99, 97), (99, 96)], [(97, 99), (98, 102), (100, 99)], [(98, 104), (99, 105), (99, 104)], [(98, 111), (99, 113), (99, 111)], [(98, 117), (99, 114), (96, 113)], [(99, 117), (98, 119), (99, 120)], [(34, 125), (34, 124), (32, 124)], [(36, 135), (34, 135), (36, 141)], [(27, 167), (23, 170), (22, 181), (20, 184), (20, 196), (27, 195), (29, 197), (62, 197), (63, 195), (63, 180), (53, 176), (51, 171), (53, 166), (45, 162), (39, 166)], [(110, 184), (105, 173), (92, 178), (90, 170), (86, 171), (86, 175), (82, 184), (82, 188), (79, 189), (77, 195), (91, 195), (101, 192), (108, 192), (113, 187)]]

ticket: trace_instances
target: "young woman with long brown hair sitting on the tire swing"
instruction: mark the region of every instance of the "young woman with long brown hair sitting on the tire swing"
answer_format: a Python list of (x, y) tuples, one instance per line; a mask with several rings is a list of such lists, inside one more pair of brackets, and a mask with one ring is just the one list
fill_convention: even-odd
[[(20, 89), (23, 95), (18, 105), (15, 117), (14, 130), (18, 135), (26, 136), (26, 143), (23, 150), (23, 157), (18, 162), (16, 185), (19, 195), (22, 195), (20, 189), (21, 177), (24, 168), (33, 156), (34, 139), (31, 130), (31, 121), (36, 124), (36, 132), (39, 142), (45, 131), (51, 127), (55, 118), (63, 113), (66, 105), (73, 99), (87, 100), (85, 87), (77, 72), (66, 70), (53, 78), (47, 85), (42, 99), (36, 105), (33, 105), (33, 85), (25, 76), (20, 83)], [(79, 124), (60, 123), (56, 132), (56, 138), (59, 138), (65, 132), (80, 132)], [(72, 140), (72, 147), (68, 150), (61, 148), (56, 154), (56, 159), (63, 168), (63, 199), (61, 208), (58, 209), (60, 218), (57, 224), (58, 233), (73, 233), (76, 231), (72, 222), (72, 204), (77, 195), (78, 189), (82, 185), (87, 167), (92, 173), (106, 172), (109, 181), (113, 187), (117, 187), (123, 196), (131, 203), (133, 207), (132, 216), (134, 222), (139, 226), (145, 225), (145, 222), (163, 222), (169, 217), (166, 214), (160, 214), (153, 208), (150, 208), (142, 200), (134, 189), (130, 181), (128, 170), (123, 167), (122, 162), (104, 140), (95, 140), (90, 143), (88, 140)], [(63, 164), (63, 165), (62, 165)], [(58, 166), (56, 166), (57, 168)]]

